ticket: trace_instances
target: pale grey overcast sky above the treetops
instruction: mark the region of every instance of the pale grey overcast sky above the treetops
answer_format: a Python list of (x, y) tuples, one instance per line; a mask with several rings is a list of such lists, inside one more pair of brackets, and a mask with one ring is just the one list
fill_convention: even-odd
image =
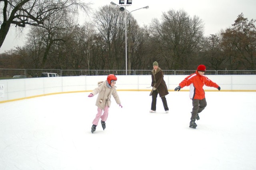
[[(96, 10), (100, 6), (109, 5), (111, 1), (119, 3), (119, 0), (91, 0), (94, 3), (92, 7)], [(149, 6), (149, 8), (136, 10), (144, 6)], [(140, 26), (149, 24), (153, 18), (161, 20), (162, 12), (183, 9), (191, 17), (196, 15), (203, 20), (204, 35), (209, 36), (230, 27), (241, 13), (248, 20), (256, 19), (255, 7), (256, 0), (132, 0), (132, 5), (127, 6), (126, 9), (128, 11), (136, 10), (131, 14)], [(81, 15), (80, 22), (83, 23), (83, 21), (84, 18)], [(15, 27), (12, 26), (0, 48), (0, 53), (16, 46), (23, 46), (22, 38), (24, 37), (16, 35)]]

